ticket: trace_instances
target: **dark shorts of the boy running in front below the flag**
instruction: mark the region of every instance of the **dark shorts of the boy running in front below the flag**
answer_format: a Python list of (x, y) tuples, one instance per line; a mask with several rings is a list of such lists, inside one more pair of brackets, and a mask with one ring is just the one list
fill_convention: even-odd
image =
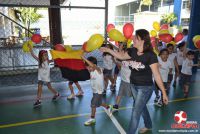
[(102, 104), (102, 94), (93, 93), (93, 97), (91, 100), (91, 107), (100, 107)]

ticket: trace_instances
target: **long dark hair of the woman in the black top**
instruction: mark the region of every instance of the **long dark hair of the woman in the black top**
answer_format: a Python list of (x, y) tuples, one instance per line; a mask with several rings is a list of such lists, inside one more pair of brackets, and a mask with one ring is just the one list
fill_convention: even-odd
[(151, 39), (149, 32), (146, 29), (138, 29), (135, 32), (136, 36), (139, 36), (141, 40), (144, 40), (143, 52), (152, 51)]

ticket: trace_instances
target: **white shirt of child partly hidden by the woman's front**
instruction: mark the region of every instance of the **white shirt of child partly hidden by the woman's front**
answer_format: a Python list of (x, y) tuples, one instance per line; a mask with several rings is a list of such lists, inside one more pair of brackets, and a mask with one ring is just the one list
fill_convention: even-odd
[(129, 68), (129, 61), (122, 61), (121, 66), (121, 80), (130, 83), (131, 70)]

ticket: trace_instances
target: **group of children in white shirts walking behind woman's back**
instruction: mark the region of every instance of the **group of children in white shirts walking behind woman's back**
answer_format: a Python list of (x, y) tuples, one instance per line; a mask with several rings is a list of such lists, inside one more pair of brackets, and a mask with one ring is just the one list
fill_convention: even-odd
[[(167, 44), (166, 48), (162, 48), (158, 55), (159, 71), (169, 94), (170, 85), (172, 84), (173, 76), (174, 83), (172, 84), (176, 88), (176, 81), (179, 77), (179, 85), (183, 89), (184, 98), (188, 97), (189, 85), (192, 76), (192, 67), (199, 66), (194, 64), (195, 52), (186, 48), (186, 42), (182, 41), (177, 44), (177, 48), (173, 44)], [(155, 84), (155, 104), (159, 107), (163, 105), (162, 93), (159, 95), (159, 88)]]

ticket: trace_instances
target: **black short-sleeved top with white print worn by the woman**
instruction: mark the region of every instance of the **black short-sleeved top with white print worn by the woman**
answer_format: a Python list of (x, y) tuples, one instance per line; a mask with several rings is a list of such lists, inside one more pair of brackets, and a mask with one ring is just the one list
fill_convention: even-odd
[(151, 86), (153, 80), (150, 65), (158, 63), (155, 53), (149, 51), (139, 56), (136, 48), (130, 48), (128, 49), (128, 55), (133, 60), (130, 64), (130, 82), (136, 86)]

